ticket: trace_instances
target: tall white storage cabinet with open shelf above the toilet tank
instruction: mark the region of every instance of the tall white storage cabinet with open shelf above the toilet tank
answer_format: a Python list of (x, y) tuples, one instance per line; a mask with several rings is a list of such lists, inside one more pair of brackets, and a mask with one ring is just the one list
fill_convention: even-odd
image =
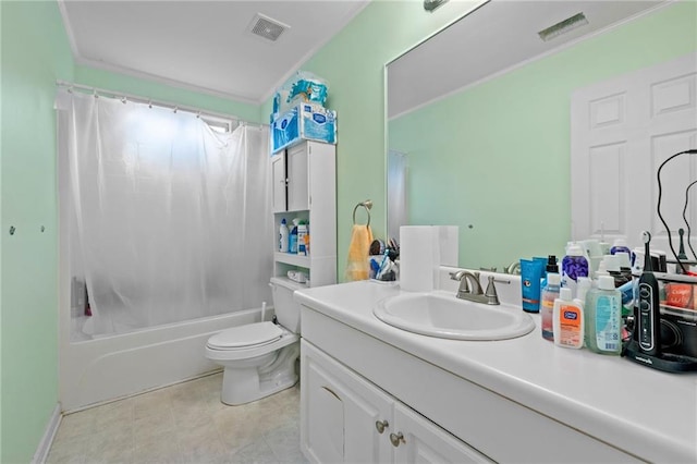
[[(337, 160), (335, 146), (304, 141), (271, 157), (271, 210), (276, 230), (273, 276), (289, 270), (309, 276), (309, 286), (337, 282)], [(279, 228), (285, 219), (308, 222), (307, 256), (279, 252)]]

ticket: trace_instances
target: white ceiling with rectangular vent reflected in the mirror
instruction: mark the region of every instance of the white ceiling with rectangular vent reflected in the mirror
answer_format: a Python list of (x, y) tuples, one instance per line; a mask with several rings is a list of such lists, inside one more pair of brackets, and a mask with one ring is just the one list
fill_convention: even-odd
[[(491, 0), (388, 66), (394, 118), (488, 76), (607, 30), (664, 0)], [(538, 32), (583, 12), (588, 24), (550, 41)]]

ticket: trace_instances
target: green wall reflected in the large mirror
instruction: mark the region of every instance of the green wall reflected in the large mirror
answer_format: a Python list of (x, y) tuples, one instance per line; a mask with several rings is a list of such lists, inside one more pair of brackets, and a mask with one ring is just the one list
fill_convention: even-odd
[(391, 121), (409, 220), (460, 224), (462, 266), (560, 256), (573, 236), (572, 93), (696, 50), (697, 3), (682, 2)]

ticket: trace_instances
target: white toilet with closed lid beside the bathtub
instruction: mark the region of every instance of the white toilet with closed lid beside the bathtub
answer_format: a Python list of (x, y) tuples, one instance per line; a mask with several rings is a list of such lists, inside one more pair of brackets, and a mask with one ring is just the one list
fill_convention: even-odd
[(268, 396), (297, 382), (301, 309), (292, 282), (271, 278), (279, 325), (255, 322), (223, 330), (206, 344), (206, 357), (224, 367), (221, 400), (237, 405)]

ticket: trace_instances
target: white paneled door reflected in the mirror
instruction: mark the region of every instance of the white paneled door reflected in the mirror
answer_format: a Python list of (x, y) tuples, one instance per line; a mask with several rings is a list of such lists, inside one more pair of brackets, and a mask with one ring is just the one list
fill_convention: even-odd
[[(571, 184), (573, 240), (607, 242), (625, 235), (639, 246), (672, 253), (657, 211), (660, 164), (697, 148), (697, 54), (577, 90), (572, 96)], [(661, 216), (677, 252), (677, 231), (697, 232), (697, 157), (680, 156), (661, 170)], [(687, 208), (685, 219), (686, 198)], [(693, 233), (694, 235), (694, 233)], [(689, 251), (688, 251), (689, 253)]]

